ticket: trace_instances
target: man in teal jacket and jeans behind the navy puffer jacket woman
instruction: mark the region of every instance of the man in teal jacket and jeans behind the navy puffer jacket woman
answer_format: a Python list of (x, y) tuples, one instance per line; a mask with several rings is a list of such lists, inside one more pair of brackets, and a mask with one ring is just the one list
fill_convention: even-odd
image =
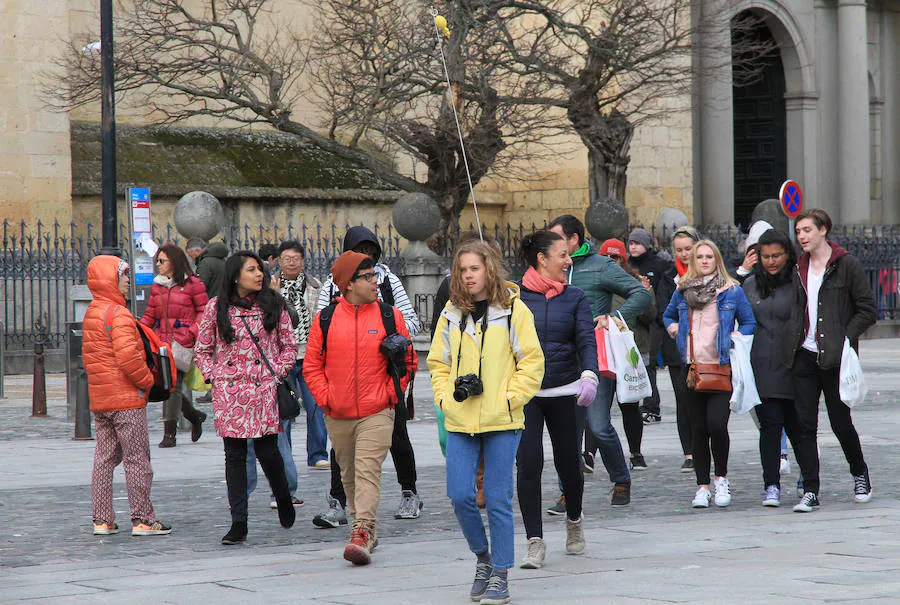
[[(652, 301), (650, 293), (641, 282), (625, 273), (616, 261), (597, 254), (594, 245), (584, 239), (584, 224), (571, 214), (556, 217), (548, 225), (548, 229), (566, 240), (572, 257), (569, 283), (587, 295), (595, 325), (605, 327), (614, 294), (625, 300), (619, 307), (619, 312), (627, 323), (633, 323)], [(614, 483), (610, 503), (613, 506), (626, 506), (631, 502), (631, 473), (622, 450), (622, 442), (610, 421), (614, 394), (615, 381), (601, 376), (597, 397), (587, 407), (586, 422), (597, 440), (609, 479)], [(579, 434), (582, 432), (583, 427), (579, 427)], [(560, 503), (557, 502), (556, 507), (559, 506)], [(564, 502), (562, 508), (565, 510)]]

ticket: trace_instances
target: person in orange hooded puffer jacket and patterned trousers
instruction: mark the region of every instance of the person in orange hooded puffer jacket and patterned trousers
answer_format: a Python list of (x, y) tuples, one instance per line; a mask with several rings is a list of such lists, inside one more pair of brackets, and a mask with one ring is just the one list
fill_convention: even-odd
[(156, 520), (150, 503), (150, 440), (147, 394), (153, 374), (134, 316), (125, 306), (131, 276), (128, 263), (97, 256), (88, 263), (94, 300), (84, 315), (82, 356), (94, 413), (97, 446), (91, 476), (94, 534), (119, 531), (112, 505), (113, 471), (122, 462), (131, 506), (131, 534), (155, 536), (172, 528)]

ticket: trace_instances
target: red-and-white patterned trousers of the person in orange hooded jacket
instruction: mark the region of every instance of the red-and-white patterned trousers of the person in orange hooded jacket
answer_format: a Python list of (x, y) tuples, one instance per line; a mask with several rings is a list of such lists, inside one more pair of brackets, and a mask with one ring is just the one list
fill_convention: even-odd
[(131, 518), (146, 523), (156, 521), (150, 503), (150, 441), (147, 435), (147, 408), (121, 412), (95, 413), (94, 471), (91, 475), (91, 505), (94, 521), (112, 523), (116, 512), (112, 504), (113, 471), (123, 463)]

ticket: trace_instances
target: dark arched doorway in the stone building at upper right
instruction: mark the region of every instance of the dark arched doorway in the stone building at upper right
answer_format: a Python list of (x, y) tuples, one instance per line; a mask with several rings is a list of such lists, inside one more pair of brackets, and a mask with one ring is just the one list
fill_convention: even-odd
[[(746, 228), (756, 205), (777, 197), (787, 178), (785, 72), (775, 37), (762, 19), (747, 11), (732, 23), (734, 221)], [(765, 50), (748, 60), (746, 53), (754, 49)]]

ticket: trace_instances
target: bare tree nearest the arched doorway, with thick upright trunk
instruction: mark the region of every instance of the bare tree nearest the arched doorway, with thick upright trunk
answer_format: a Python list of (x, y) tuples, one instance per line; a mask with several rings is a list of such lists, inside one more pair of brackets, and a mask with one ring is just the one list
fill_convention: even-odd
[[(504, 32), (510, 69), (552, 82), (543, 98), (504, 100), (566, 112), (587, 147), (592, 201), (625, 200), (635, 127), (677, 110), (670, 101), (690, 95), (700, 72), (694, 42), (729, 27), (692, 18), (696, 0), (486, 1)], [(744, 17), (733, 27), (751, 30), (755, 22)], [(752, 77), (774, 49), (749, 36), (735, 40), (741, 46), (734, 56)], [(725, 60), (732, 61), (731, 52)]]

